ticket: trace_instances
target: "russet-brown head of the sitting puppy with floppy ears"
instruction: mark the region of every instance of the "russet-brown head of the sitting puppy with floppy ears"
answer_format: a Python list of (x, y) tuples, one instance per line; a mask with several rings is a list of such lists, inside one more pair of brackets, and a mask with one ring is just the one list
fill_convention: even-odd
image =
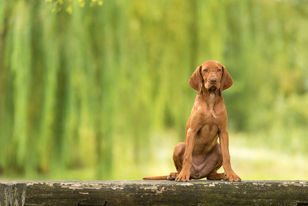
[(233, 80), (226, 71), (226, 67), (214, 60), (203, 62), (189, 79), (189, 85), (197, 91), (200, 91), (201, 87), (207, 90), (220, 89), (223, 91), (231, 87), (232, 84)]

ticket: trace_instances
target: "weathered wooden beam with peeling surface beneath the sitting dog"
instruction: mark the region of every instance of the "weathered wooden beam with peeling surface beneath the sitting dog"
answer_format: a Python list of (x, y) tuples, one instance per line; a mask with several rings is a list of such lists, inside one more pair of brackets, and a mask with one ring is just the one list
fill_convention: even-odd
[(0, 182), (0, 205), (308, 205), (308, 181)]

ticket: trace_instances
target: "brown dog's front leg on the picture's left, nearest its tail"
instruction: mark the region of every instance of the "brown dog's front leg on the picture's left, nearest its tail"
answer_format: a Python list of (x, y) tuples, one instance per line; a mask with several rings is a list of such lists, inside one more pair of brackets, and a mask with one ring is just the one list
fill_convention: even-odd
[(197, 134), (197, 130), (192, 130), (189, 128), (187, 130), (187, 136), (185, 138), (185, 152), (183, 159), (183, 166), (180, 174), (176, 177), (176, 181), (189, 181), (190, 170), (191, 170), (191, 162), (192, 162), (192, 153), (193, 153), (193, 144), (195, 141), (195, 137)]

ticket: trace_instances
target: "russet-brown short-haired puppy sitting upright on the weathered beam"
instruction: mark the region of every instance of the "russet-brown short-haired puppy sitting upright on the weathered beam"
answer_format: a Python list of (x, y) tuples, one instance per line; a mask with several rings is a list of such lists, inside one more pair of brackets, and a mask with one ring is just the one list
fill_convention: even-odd
[[(198, 91), (191, 115), (186, 124), (185, 142), (174, 148), (174, 165), (177, 172), (169, 176), (152, 176), (143, 179), (226, 179), (241, 181), (233, 172), (228, 150), (227, 113), (222, 91), (233, 80), (226, 68), (214, 60), (197, 67), (189, 79), (189, 85)], [(220, 139), (218, 144), (217, 139)], [(224, 173), (217, 173), (223, 166)]]

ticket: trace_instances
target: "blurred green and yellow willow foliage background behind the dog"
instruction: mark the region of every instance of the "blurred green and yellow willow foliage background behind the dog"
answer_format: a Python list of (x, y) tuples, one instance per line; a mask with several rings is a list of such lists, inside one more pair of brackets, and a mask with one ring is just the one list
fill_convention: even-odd
[(233, 170), (307, 180), (308, 1), (0, 1), (0, 181), (175, 172), (206, 60)]

